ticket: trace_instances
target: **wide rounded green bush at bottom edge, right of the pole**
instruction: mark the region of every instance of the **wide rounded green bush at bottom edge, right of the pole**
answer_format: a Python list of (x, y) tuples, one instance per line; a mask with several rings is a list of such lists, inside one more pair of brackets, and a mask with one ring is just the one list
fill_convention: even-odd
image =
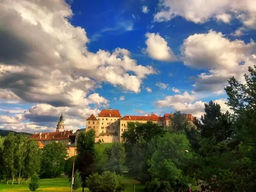
[(124, 178), (115, 172), (104, 172), (101, 175), (94, 173), (86, 180), (87, 186), (91, 192), (116, 192), (124, 191)]

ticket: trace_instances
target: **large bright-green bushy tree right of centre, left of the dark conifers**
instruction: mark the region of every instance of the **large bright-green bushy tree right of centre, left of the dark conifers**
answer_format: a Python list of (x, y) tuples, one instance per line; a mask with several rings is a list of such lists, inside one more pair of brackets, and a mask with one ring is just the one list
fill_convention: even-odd
[(193, 180), (193, 172), (190, 172), (193, 158), (186, 135), (167, 132), (159, 139), (157, 150), (148, 161), (149, 172), (153, 179), (168, 181), (172, 189), (178, 191), (182, 184)]

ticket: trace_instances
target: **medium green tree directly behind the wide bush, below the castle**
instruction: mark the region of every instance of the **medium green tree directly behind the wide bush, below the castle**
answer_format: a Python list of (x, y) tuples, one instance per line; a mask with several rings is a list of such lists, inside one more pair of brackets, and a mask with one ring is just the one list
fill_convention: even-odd
[(104, 150), (106, 154), (106, 169), (117, 174), (124, 171), (125, 151), (121, 143), (113, 143), (113, 145)]

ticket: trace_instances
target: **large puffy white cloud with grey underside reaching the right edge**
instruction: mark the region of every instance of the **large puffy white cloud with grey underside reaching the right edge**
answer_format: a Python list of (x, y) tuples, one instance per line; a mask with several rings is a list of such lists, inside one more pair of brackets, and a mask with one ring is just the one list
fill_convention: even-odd
[(232, 76), (243, 82), (248, 66), (256, 64), (253, 40), (247, 44), (237, 39), (231, 41), (213, 30), (190, 35), (184, 40), (181, 52), (186, 66), (208, 70), (195, 78), (196, 92), (221, 91)]

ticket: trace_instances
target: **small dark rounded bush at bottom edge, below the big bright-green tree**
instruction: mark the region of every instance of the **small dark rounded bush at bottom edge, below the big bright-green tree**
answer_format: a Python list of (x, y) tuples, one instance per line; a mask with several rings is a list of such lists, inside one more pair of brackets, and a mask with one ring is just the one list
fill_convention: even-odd
[(174, 192), (170, 182), (162, 181), (159, 179), (153, 179), (151, 182), (148, 182), (145, 187), (147, 192)]

